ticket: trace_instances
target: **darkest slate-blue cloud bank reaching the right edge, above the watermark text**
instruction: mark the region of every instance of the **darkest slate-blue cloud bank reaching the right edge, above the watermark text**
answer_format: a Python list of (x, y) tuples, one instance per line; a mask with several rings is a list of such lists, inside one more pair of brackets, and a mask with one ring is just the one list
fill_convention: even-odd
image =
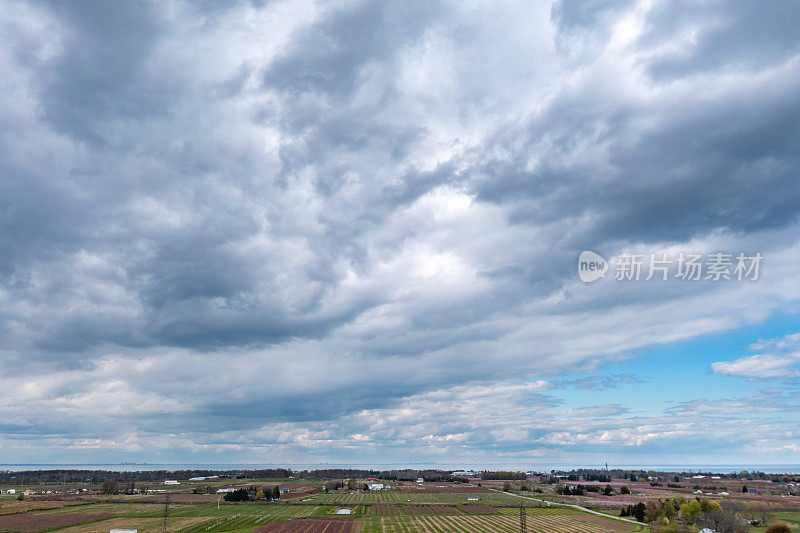
[[(800, 78), (792, 72), (758, 99), (688, 97), (641, 109), (620, 102), (604, 112), (581, 94), (516, 136), (498, 139), (500, 145), (525, 142), (510, 160), (474, 169), (475, 187), (481, 198), (513, 206), (521, 221), (597, 216), (590, 232), (567, 243), (572, 250), (604, 240), (681, 241), (713, 229), (785, 226), (800, 212), (798, 91)], [(639, 129), (645, 117), (657, 126)], [(521, 170), (544, 141), (555, 148), (541, 168)], [(607, 146), (608, 167), (590, 168), (580, 159), (565, 165), (570, 146), (583, 143)]]

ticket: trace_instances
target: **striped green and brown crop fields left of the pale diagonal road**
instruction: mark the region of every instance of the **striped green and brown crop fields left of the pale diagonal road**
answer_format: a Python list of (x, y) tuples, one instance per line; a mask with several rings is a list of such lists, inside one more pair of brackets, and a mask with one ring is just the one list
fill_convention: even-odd
[[(458, 499), (457, 493), (434, 493), (428, 499)], [(494, 496), (494, 495), (490, 495)], [(509, 500), (512, 497), (506, 496)], [(516, 500), (519, 501), (519, 500)], [(518, 507), (493, 507), (482, 503), (357, 504), (351, 514), (337, 516), (337, 505), (280, 503), (172, 504), (168, 531), (178, 533), (511, 533), (519, 530)], [(164, 506), (131, 500), (90, 502), (80, 506), (36, 509), (0, 518), (0, 531), (42, 533), (107, 533), (113, 528), (155, 533), (163, 528)], [(563, 508), (527, 508), (531, 533), (603, 533), (636, 531), (633, 526)]]

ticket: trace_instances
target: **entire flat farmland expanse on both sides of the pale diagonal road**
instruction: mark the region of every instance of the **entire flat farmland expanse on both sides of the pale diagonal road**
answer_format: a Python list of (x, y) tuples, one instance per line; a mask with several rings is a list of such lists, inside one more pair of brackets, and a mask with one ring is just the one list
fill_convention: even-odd
[[(228, 481), (228, 486), (249, 488), (251, 498), (260, 487), (276, 485), (274, 480), (266, 479), (254, 480), (254, 486), (243, 485), (239, 480)], [(333, 483), (330, 481), (301, 482), (292, 487), (301, 491), (299, 497), (286, 499), (282, 495), (280, 501), (273, 502), (218, 501), (221, 495), (205, 494), (205, 490), (203, 494), (175, 490), (168, 498), (163, 493), (109, 495), (95, 491), (58, 497), (39, 495), (18, 501), (13, 495), (4, 495), (0, 498), (0, 533), (107, 533), (114, 528), (160, 532), (164, 530), (167, 499), (167, 531), (175, 533), (516, 533), (520, 505), (525, 506), (529, 533), (645, 533), (650, 530), (644, 525), (611, 517), (619, 516), (624, 505), (658, 501), (664, 495), (680, 495), (688, 500), (697, 490), (693, 481), (670, 482), (672, 486), (665, 487), (614, 480), (602, 484), (603, 489), (606, 485), (612, 489), (606, 494), (588, 490), (564, 494), (563, 487), (570, 484), (585, 483), (584, 487), (590, 487), (598, 483), (569, 480), (543, 483), (538, 478), (482, 481), (471, 480), (469, 486), (390, 480), (390, 488), (380, 491), (366, 490), (360, 481), (350, 489), (342, 481), (338, 487), (327, 485)], [(742, 481), (706, 480), (701, 482), (705, 490), (702, 496), (717, 501), (738, 500), (743, 504), (761, 497), (772, 506), (770, 523), (784, 522), (800, 533), (800, 511), (792, 510), (794, 506), (777, 505), (777, 502), (791, 503), (796, 496), (780, 494), (785, 489), (777, 484), (749, 480), (748, 483), (755, 494), (742, 492)], [(623, 492), (622, 487), (630, 493)], [(548, 505), (548, 501), (555, 504)], [(558, 502), (594, 507), (610, 516), (559, 506)], [(749, 532), (765, 530), (752, 527)]]

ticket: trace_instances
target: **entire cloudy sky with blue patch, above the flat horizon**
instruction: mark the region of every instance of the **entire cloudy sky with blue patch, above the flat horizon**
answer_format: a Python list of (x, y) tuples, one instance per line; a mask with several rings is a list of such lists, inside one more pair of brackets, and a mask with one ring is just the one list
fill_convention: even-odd
[(798, 20), (0, 1), (0, 462), (800, 463)]

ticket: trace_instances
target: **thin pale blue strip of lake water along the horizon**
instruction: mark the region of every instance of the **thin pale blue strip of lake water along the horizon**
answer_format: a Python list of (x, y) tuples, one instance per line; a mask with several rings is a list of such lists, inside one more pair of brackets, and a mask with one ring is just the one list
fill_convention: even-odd
[[(324, 470), (328, 468), (353, 468), (362, 470), (511, 470), (550, 472), (551, 470), (574, 470), (579, 468), (597, 469), (605, 465), (598, 464), (440, 464), (440, 463), (392, 463), (392, 464), (355, 464), (355, 463), (305, 463), (305, 464), (256, 464), (256, 463), (120, 463), (120, 464), (0, 464), (0, 470), (22, 472), (25, 470), (111, 470), (115, 472), (144, 472), (153, 470), (260, 470), (267, 468), (290, 468), (300, 470)], [(766, 474), (800, 474), (800, 465), (616, 465), (609, 464), (609, 469), (652, 470), (656, 472), (711, 472), (729, 474), (748, 470)]]

